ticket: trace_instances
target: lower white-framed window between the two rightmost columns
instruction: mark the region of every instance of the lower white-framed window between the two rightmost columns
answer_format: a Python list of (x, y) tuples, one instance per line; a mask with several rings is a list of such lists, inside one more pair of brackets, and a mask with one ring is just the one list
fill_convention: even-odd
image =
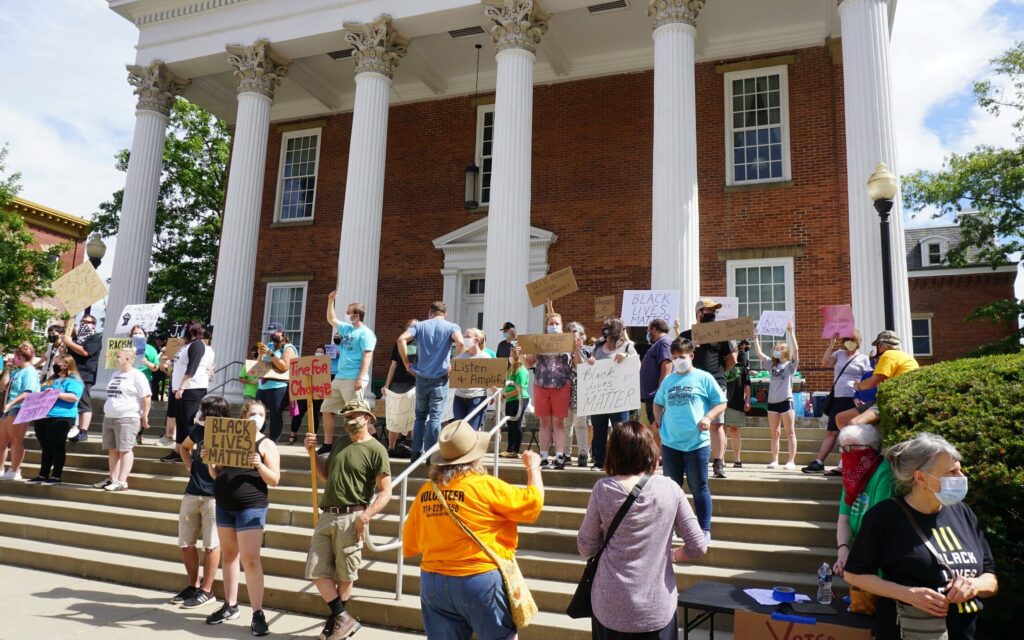
[[(763, 311), (793, 311), (795, 306), (793, 258), (763, 260), (729, 260), (726, 263), (726, 286), (730, 296), (739, 302), (739, 315), (755, 321)], [(770, 353), (772, 344), (781, 340), (774, 336), (761, 338), (761, 348)], [(761, 369), (752, 357), (752, 369)]]

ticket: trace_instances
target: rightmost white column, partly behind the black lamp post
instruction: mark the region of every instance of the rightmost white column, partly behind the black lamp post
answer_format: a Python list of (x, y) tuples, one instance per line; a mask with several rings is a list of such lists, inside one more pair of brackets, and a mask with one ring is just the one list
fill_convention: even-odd
[(869, 341), (894, 330), (910, 351), (910, 296), (903, 249), (903, 206), (896, 196), (890, 217), (895, 327), (885, 327), (879, 215), (867, 198), (867, 177), (884, 162), (899, 175), (889, 58), (886, 0), (843, 0), (843, 90), (846, 114), (847, 190), (850, 216), (850, 276), (857, 328)]

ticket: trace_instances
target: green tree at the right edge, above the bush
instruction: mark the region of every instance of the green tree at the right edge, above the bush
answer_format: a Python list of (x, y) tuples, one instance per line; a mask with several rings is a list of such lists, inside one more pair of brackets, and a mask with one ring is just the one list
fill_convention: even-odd
[[(947, 259), (954, 266), (969, 262), (1020, 263), (1024, 251), (1024, 42), (1017, 43), (992, 60), (992, 69), (1009, 83), (1009, 94), (997, 83), (975, 83), (978, 103), (998, 115), (1016, 115), (1013, 145), (979, 145), (966, 154), (953, 154), (939, 171), (918, 171), (903, 178), (903, 199), (908, 210), (934, 207), (935, 217), (963, 211), (977, 213), (959, 217), (963, 242), (950, 248)], [(972, 312), (972, 318), (1006, 323), (1011, 334), (976, 354), (1021, 350), (1024, 331), (1019, 318), (1024, 301), (997, 300)]]

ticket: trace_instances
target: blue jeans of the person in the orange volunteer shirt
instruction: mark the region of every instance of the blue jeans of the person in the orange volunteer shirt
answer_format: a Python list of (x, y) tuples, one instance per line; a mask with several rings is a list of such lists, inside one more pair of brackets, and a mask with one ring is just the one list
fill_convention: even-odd
[(508, 640), (515, 635), (498, 569), (476, 575), (420, 571), (420, 603), (428, 638)]

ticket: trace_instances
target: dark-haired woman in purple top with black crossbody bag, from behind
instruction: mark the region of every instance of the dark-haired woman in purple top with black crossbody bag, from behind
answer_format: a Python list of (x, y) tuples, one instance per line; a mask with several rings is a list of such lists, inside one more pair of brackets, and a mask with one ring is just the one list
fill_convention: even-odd
[[(595, 640), (679, 637), (672, 563), (703, 556), (708, 543), (683, 489), (671, 478), (654, 475), (657, 457), (653, 433), (639, 422), (612, 427), (604, 460), (608, 477), (594, 484), (577, 536), (580, 555), (589, 558), (600, 550), (633, 486), (649, 477), (597, 564), (591, 591)], [(672, 548), (673, 531), (683, 539), (682, 547)]]

